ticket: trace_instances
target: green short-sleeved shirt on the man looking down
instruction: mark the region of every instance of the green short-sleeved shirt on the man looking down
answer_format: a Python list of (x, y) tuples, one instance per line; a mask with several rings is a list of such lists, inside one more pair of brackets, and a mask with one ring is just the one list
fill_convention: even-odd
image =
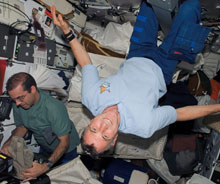
[[(53, 151), (59, 144), (57, 137), (70, 134), (70, 145), (66, 153), (72, 151), (79, 144), (79, 135), (72, 121), (69, 119), (65, 105), (54, 97), (40, 91), (36, 104), (29, 109), (23, 109), (13, 104), (14, 121), (16, 126), (24, 126), (30, 130), (38, 144), (47, 151)], [(48, 143), (52, 139), (52, 143)], [(47, 140), (48, 139), (48, 140)]]

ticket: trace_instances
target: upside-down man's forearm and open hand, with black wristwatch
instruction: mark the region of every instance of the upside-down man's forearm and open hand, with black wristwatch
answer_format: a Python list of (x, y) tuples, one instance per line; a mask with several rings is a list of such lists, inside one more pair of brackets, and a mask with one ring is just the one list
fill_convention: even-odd
[[(57, 25), (63, 31), (64, 34), (69, 33), (70, 28), (69, 28), (68, 23), (65, 20), (63, 20), (63, 17), (60, 14), (56, 16), (55, 6), (51, 7), (51, 12), (52, 12), (53, 23)], [(71, 40), (69, 44), (70, 44), (70, 47), (73, 51), (73, 54), (77, 62), (79, 63), (81, 67), (91, 64), (91, 60), (89, 58), (88, 53), (86, 52), (84, 47), (78, 42), (76, 38)]]

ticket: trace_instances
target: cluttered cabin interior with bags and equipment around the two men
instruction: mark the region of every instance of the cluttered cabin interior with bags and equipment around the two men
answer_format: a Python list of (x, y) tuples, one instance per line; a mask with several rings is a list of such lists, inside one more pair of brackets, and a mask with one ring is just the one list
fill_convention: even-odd
[[(185, 0), (143, 1), (153, 8), (158, 19), (160, 45)], [(99, 77), (104, 78), (115, 73), (126, 60), (141, 3), (142, 0), (0, 1), (0, 148), (15, 129), (13, 102), (6, 93), (6, 82), (18, 72), (31, 74), (39, 89), (65, 104), (79, 136), (93, 118), (82, 105), (81, 67), (62, 32), (53, 24), (50, 7), (55, 5), (68, 21), (97, 67)], [(220, 80), (214, 85), (211, 82), (217, 75), (220, 79), (220, 1), (200, 3), (201, 25), (211, 31), (195, 64), (180, 61), (177, 65), (167, 93), (169, 102), (176, 107), (220, 103)], [(40, 45), (42, 40), (33, 27), (33, 16), (41, 25), (45, 45)], [(39, 153), (40, 146), (31, 132), (24, 140), (31, 152)], [(77, 146), (77, 153), (74, 160), (25, 183), (220, 183), (220, 115), (176, 122), (150, 138), (119, 133), (116, 145), (99, 159), (86, 155), (81, 145)], [(13, 164), (11, 157), (0, 153), (0, 184), (22, 183), (14, 176)]]

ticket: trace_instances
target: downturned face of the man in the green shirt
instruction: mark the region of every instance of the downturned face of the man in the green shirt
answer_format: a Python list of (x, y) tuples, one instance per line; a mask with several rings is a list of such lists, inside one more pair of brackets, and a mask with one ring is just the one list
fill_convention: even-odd
[(39, 98), (39, 93), (35, 86), (31, 86), (31, 92), (29, 93), (23, 89), (21, 84), (11, 91), (8, 91), (8, 94), (16, 105), (21, 106), (23, 109), (29, 109)]

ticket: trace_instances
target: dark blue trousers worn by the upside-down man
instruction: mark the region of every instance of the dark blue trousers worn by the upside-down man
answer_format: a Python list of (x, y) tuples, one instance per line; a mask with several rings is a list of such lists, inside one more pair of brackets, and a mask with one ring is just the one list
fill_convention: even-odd
[[(196, 51), (196, 54), (195, 53), (191, 54), (191, 51), (189, 52), (185, 51), (185, 53), (180, 53), (181, 50), (178, 50), (178, 52), (173, 51), (174, 54), (179, 54), (177, 55), (178, 57), (172, 57), (170, 54), (171, 50), (174, 48), (174, 43), (176, 43), (179, 32), (183, 30), (182, 28), (185, 28), (184, 26), (186, 24), (190, 23), (197, 27), (196, 29), (193, 29), (193, 27), (188, 26), (185, 29), (190, 28), (193, 29), (193, 31), (201, 31), (201, 29), (203, 29), (200, 28), (202, 26), (199, 26), (200, 9), (201, 6), (198, 0), (185, 1), (180, 6), (178, 15), (173, 20), (168, 35), (164, 38), (162, 44), (158, 47), (157, 46), (158, 21), (155, 16), (155, 13), (153, 12), (153, 9), (149, 7), (145, 1), (143, 1), (131, 36), (130, 50), (127, 59), (131, 57), (146, 57), (152, 59), (162, 69), (166, 84), (167, 85), (170, 84), (173, 73), (176, 69), (176, 65), (178, 64), (179, 59), (181, 59), (180, 54), (182, 54), (183, 60), (187, 59), (184, 55), (188, 55), (189, 62), (192, 63), (194, 62), (195, 56), (198, 53), (198, 51)], [(192, 39), (194, 39), (193, 36), (190, 35), (192, 34), (191, 30), (190, 32), (187, 31), (186, 33), (182, 33), (183, 36), (187, 38), (192, 37)], [(206, 39), (207, 35), (206, 34), (202, 35), (204, 36), (203, 42)], [(198, 42), (201, 42), (201, 38), (197, 38), (197, 39)], [(185, 38), (183, 38), (183, 40), (179, 39), (177, 41), (178, 42), (185, 41), (183, 43), (185, 45), (191, 44), (189, 45), (189, 47), (191, 46), (193, 47), (193, 45), (195, 44), (194, 41), (191, 40), (188, 41)], [(199, 44), (201, 45), (203, 43), (199, 43)], [(183, 45), (183, 47), (185, 45)], [(176, 44), (175, 46), (178, 47), (179, 45)], [(199, 51), (201, 51), (201, 49)]]

